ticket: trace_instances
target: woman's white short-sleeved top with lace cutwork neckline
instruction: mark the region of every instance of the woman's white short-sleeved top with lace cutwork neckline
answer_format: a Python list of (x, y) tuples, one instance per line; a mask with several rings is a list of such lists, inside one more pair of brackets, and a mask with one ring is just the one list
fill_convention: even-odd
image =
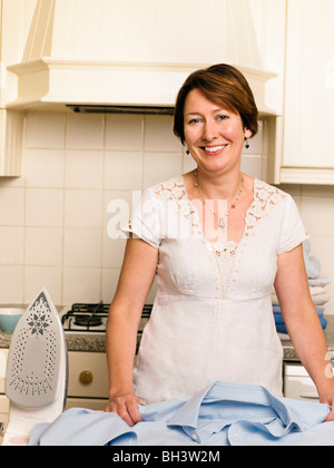
[(134, 368), (140, 400), (191, 397), (219, 380), (282, 396), (271, 293), (277, 255), (307, 237), (291, 195), (255, 178), (240, 241), (214, 244), (179, 176), (146, 189), (124, 231), (159, 250), (158, 291)]

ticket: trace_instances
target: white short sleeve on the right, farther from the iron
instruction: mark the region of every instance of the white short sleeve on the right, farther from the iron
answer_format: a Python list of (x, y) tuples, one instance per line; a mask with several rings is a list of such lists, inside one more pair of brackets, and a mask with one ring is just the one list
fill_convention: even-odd
[(286, 194), (286, 207), (284, 213), (281, 236), (277, 246), (277, 254), (292, 251), (302, 244), (308, 235), (305, 231), (297, 205), (293, 197)]

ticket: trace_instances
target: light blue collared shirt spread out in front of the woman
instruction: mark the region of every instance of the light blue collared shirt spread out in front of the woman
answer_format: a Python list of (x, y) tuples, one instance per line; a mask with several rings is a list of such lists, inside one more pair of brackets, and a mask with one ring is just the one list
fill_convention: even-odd
[(272, 396), (263, 387), (216, 382), (190, 399), (140, 406), (129, 427), (116, 413), (72, 408), (35, 426), (30, 446), (333, 446), (331, 408)]

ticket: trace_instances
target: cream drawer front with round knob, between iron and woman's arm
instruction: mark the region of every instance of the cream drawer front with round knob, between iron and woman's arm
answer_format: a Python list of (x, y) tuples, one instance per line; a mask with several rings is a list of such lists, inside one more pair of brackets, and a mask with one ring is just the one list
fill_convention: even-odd
[(107, 358), (99, 352), (69, 352), (68, 397), (106, 398), (109, 393)]

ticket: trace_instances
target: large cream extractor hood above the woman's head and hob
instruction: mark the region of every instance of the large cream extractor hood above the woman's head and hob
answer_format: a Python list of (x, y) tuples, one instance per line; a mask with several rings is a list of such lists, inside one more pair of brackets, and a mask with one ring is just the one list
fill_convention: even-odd
[(22, 60), (7, 67), (18, 82), (7, 108), (170, 108), (215, 62), (237, 66), (261, 114), (275, 114), (247, 0), (36, 0)]

